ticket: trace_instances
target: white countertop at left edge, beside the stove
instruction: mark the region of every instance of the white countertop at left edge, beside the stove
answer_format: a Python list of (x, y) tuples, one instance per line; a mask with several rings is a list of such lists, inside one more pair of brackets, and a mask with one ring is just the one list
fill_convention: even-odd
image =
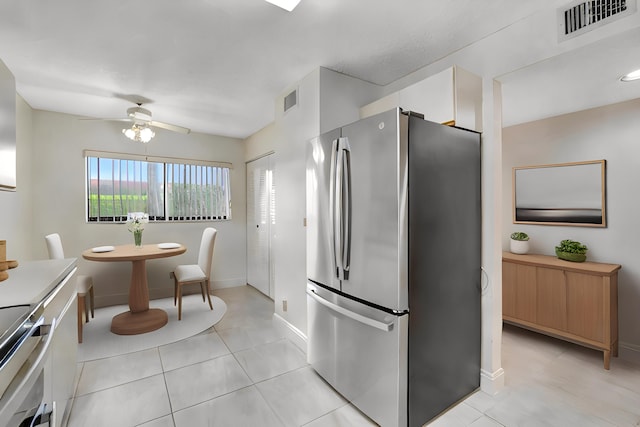
[(21, 262), (0, 282), (0, 307), (37, 304), (76, 268), (76, 258)]

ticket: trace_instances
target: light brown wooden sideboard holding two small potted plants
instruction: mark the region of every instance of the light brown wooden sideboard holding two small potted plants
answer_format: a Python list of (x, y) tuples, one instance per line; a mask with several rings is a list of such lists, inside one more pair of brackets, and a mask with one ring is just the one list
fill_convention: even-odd
[(618, 264), (502, 254), (502, 319), (618, 355)]

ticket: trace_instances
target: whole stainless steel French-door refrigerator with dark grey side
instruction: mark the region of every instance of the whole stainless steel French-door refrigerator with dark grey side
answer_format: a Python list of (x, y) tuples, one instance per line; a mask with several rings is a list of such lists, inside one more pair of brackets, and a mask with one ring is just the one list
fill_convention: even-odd
[(394, 109), (307, 147), (311, 366), (381, 426), (480, 386), (480, 135)]

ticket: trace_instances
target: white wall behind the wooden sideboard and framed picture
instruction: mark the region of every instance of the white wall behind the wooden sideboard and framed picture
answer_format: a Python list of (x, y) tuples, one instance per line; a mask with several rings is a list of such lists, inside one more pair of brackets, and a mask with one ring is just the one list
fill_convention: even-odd
[[(502, 244), (522, 230), (530, 252), (554, 255), (562, 239), (589, 247), (588, 261), (621, 264), (618, 274), (620, 357), (640, 361), (640, 264), (636, 248), (640, 196), (640, 99), (504, 129)], [(607, 227), (512, 223), (511, 170), (514, 166), (605, 159)], [(614, 362), (615, 363), (615, 362)]]

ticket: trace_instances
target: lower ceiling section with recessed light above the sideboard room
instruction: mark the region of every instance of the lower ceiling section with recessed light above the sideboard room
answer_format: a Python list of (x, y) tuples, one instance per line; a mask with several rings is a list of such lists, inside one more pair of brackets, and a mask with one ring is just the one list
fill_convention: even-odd
[(640, 98), (640, 28), (607, 37), (501, 76), (504, 126)]

